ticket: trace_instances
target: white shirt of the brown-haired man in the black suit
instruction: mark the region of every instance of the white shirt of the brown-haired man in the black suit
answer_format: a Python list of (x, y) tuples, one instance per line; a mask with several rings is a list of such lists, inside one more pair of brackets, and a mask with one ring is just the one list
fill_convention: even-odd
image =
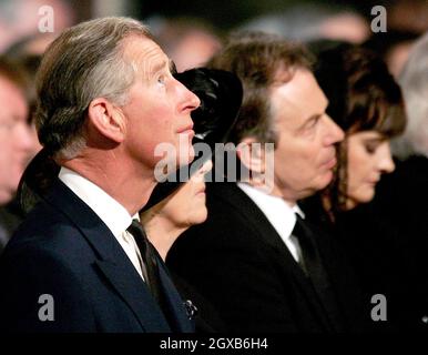
[(262, 210), (272, 226), (279, 234), (281, 239), (288, 247), (294, 260), (299, 262), (302, 257), (300, 246), (297, 239), (292, 235), (296, 224), (296, 213), (303, 219), (305, 214), (297, 204), (291, 206), (282, 197), (269, 195), (246, 183), (238, 182), (238, 187)]

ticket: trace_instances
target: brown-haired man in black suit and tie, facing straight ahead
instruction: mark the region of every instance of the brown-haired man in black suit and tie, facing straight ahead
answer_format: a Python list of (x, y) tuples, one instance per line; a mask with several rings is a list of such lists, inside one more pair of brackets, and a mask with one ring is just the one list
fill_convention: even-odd
[(249, 34), (232, 39), (211, 64), (243, 82), (231, 132), (231, 142), (240, 143), (241, 181), (207, 184), (208, 219), (175, 242), (167, 265), (233, 332), (359, 329), (351, 271), (297, 205), (330, 182), (335, 143), (344, 136), (325, 113), (328, 102), (305, 50)]

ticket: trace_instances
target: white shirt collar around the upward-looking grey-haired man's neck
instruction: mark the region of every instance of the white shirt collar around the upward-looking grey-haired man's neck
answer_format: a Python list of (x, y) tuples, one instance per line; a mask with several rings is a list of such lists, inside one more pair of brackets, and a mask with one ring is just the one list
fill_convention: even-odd
[(140, 220), (137, 213), (131, 217), (124, 206), (79, 173), (62, 166), (59, 179), (95, 212), (115, 237), (131, 225), (133, 219)]

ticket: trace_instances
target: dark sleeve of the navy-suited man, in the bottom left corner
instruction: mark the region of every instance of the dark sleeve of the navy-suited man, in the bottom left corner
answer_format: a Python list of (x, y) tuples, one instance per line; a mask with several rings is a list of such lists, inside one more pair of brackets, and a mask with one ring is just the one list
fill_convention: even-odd
[[(80, 276), (52, 252), (23, 247), (3, 255), (0, 283), (3, 332), (95, 331), (85, 298), (88, 291), (82, 287)], [(53, 308), (42, 295), (52, 296)], [(41, 321), (48, 315), (53, 315), (53, 321)]]

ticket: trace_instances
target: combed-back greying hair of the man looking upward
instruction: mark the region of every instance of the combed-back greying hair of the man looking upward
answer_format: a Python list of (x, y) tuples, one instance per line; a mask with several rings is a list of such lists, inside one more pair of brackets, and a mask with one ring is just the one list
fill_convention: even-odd
[(48, 48), (37, 74), (35, 126), (55, 158), (72, 159), (86, 144), (84, 122), (92, 100), (124, 105), (135, 69), (123, 55), (124, 39), (153, 40), (130, 18), (101, 18), (67, 29)]

